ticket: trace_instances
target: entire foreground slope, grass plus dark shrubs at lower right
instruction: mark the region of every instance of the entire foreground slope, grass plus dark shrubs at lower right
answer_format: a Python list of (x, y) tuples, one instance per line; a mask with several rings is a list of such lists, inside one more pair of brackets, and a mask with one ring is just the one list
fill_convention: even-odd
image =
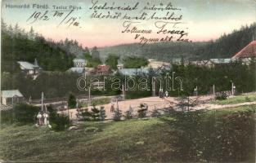
[(78, 131), (9, 125), (0, 130), (0, 160), (249, 163), (255, 159), (252, 129), (254, 112), (249, 107), (172, 112), (144, 120), (87, 121), (79, 123)]

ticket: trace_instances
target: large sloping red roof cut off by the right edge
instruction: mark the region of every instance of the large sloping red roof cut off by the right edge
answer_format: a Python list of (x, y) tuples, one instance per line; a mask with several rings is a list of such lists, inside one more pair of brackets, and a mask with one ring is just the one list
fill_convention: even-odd
[(256, 41), (250, 42), (247, 46), (244, 47), (241, 51), (236, 53), (232, 57), (235, 58), (255, 58), (256, 57)]

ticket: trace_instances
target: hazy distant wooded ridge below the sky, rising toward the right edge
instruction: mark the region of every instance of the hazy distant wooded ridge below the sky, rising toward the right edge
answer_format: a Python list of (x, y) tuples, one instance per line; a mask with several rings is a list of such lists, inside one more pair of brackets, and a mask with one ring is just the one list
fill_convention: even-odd
[(230, 58), (253, 40), (256, 23), (242, 26), (232, 33), (223, 33), (217, 40), (209, 42), (160, 42), (141, 46), (138, 43), (110, 46), (100, 49), (101, 58), (107, 54), (146, 56), (171, 61), (174, 58), (212, 59)]

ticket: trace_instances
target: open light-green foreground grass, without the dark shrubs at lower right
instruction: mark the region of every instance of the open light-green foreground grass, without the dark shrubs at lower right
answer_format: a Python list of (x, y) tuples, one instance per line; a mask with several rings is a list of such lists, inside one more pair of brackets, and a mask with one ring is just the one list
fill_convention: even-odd
[[(230, 115), (231, 112), (248, 108), (250, 107), (228, 108), (216, 112), (219, 113), (217, 115)], [(192, 114), (193, 112), (191, 112)], [(213, 115), (213, 111), (206, 112), (206, 114)], [(182, 116), (186, 117), (187, 115)], [(196, 152), (196, 149), (197, 154), (186, 152), (191, 147), (187, 144), (194, 144), (192, 135), (197, 130), (191, 126), (194, 121), (189, 118), (191, 117), (187, 117), (187, 120), (186, 118), (178, 120), (177, 116), (164, 116), (147, 120), (81, 122), (78, 124), (79, 131), (61, 132), (55, 132), (46, 127), (38, 128), (33, 125), (2, 125), (0, 130), (0, 160), (22, 162), (180, 162), (182, 156), (179, 154), (186, 153), (188, 157), (184, 157), (184, 159), (195, 161), (201, 152)], [(209, 122), (212, 123), (208, 121), (208, 117), (200, 122), (205, 123), (205, 126), (208, 126)], [(188, 127), (188, 130), (185, 130), (184, 127)], [(92, 132), (90, 129), (97, 129), (97, 131)], [(203, 130), (209, 130), (209, 127)], [(245, 127), (241, 127), (241, 129), (238, 127), (236, 130), (246, 129)], [(201, 135), (207, 137), (206, 134), (199, 134), (198, 136)], [(226, 135), (227, 133), (224, 136)], [(196, 137), (196, 135), (194, 136)], [(213, 135), (213, 139), (216, 137)], [(202, 137), (196, 137), (196, 142), (198, 138)], [(245, 139), (245, 142), (246, 140), (249, 141), (249, 139)], [(220, 144), (222, 143), (224, 142)], [(218, 139), (214, 140), (214, 144), (218, 148)], [(209, 148), (214, 144), (209, 145)], [(250, 151), (254, 153), (254, 150)], [(247, 161), (248, 158), (246, 157), (243, 161), (246, 162), (245, 160)], [(247, 162), (250, 161), (253, 160)]]

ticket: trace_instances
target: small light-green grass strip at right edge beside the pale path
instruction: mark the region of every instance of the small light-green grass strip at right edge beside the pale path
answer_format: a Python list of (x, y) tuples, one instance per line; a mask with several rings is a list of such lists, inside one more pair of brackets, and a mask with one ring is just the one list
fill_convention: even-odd
[(252, 95), (238, 95), (236, 97), (231, 97), (224, 100), (216, 100), (213, 101), (211, 104), (240, 104), (240, 103), (246, 103), (246, 102), (253, 102), (256, 101), (256, 94)]

